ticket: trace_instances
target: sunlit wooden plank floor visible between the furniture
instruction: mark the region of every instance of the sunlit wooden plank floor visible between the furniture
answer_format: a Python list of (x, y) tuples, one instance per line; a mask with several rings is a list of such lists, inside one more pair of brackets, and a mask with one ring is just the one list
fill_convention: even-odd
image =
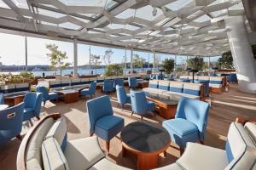
[[(96, 96), (101, 96), (100, 91), (96, 92)], [(126, 105), (124, 111), (117, 107), (116, 94), (109, 94), (111, 96), (113, 111), (117, 116), (125, 119), (125, 125), (130, 122), (139, 121), (139, 116), (131, 116), (131, 105)], [(230, 92), (223, 94), (214, 94), (214, 105), (210, 109), (207, 134), (205, 144), (224, 149), (226, 135), (230, 126), (236, 116), (256, 117), (256, 95), (244, 94), (237, 89), (237, 85), (231, 85)], [(73, 104), (65, 104), (64, 102), (50, 103), (47, 102), (45, 107), (42, 107), (42, 116), (59, 112), (67, 120), (68, 139), (79, 139), (89, 136), (88, 133), (88, 117), (85, 109), (86, 101), (89, 97), (82, 98), (79, 102)], [(163, 119), (159, 116), (149, 116), (145, 121), (159, 122)], [(32, 122), (37, 122), (33, 120)], [(32, 127), (30, 122), (24, 123), (22, 133), (26, 133), (27, 129)], [(102, 150), (106, 150), (105, 143), (99, 139)], [(8, 144), (0, 148), (0, 167), (1, 169), (9, 170), (16, 169), (16, 155), (19, 148), (20, 141), (13, 139)], [(119, 165), (136, 168), (136, 159), (132, 156), (121, 156), (121, 142), (119, 136), (111, 140), (110, 152), (108, 159)], [(167, 150), (166, 157), (160, 156), (160, 167), (170, 164), (177, 160), (179, 151), (177, 146), (172, 144)]]

